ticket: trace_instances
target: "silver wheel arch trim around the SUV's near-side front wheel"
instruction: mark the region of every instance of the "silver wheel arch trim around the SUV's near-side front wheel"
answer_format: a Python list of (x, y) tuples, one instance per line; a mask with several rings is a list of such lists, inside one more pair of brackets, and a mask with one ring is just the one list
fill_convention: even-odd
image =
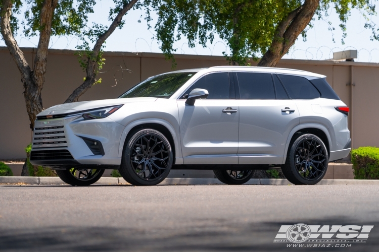
[[(175, 148), (175, 164), (183, 164), (183, 157), (181, 156), (181, 147), (180, 147), (180, 136), (176, 132), (179, 133), (179, 131), (175, 131), (173, 125), (169, 123), (166, 120), (159, 119), (159, 118), (145, 118), (145, 119), (138, 119), (135, 121), (130, 122), (129, 124), (126, 125), (120, 139), (120, 145), (118, 149), (118, 157), (122, 157), (122, 150), (124, 148), (124, 143), (126, 140), (126, 136), (130, 132), (131, 129), (136, 127), (137, 125), (144, 124), (144, 123), (158, 123), (166, 127), (169, 132), (171, 133), (172, 139), (174, 140), (174, 145), (173, 148)], [(179, 127), (179, 126), (178, 126)]]

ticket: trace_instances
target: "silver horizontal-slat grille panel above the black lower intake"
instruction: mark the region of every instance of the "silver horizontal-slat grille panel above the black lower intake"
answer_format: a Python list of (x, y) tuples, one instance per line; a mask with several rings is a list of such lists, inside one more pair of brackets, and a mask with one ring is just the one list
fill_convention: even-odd
[(67, 147), (68, 140), (66, 140), (63, 122), (60, 120), (54, 123), (56, 125), (46, 127), (42, 127), (43, 124), (36, 125), (33, 136), (33, 148)]

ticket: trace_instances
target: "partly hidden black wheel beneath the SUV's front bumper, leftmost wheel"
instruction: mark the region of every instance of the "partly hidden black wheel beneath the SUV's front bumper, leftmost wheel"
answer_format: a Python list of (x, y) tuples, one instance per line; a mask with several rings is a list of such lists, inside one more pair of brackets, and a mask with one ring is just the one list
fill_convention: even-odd
[[(57, 170), (58, 176), (66, 183), (78, 186), (91, 185), (103, 176), (104, 170), (100, 169), (70, 169)], [(83, 175), (83, 177), (82, 177)]]

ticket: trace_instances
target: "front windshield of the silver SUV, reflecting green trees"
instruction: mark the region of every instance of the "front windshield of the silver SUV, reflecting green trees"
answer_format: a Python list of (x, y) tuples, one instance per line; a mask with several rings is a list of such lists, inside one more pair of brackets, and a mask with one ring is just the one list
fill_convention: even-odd
[(118, 98), (157, 97), (170, 98), (186, 81), (196, 73), (171, 73), (151, 77)]

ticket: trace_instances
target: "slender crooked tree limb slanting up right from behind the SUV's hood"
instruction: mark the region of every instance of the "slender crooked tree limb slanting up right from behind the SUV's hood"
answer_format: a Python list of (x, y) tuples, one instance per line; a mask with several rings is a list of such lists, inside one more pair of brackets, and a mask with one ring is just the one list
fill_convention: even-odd
[(99, 56), (103, 43), (114, 32), (114, 30), (120, 25), (122, 17), (137, 2), (138, 0), (131, 0), (127, 5), (125, 5), (122, 8), (122, 10), (117, 14), (116, 18), (113, 20), (108, 30), (98, 38), (95, 45), (93, 46), (91, 57), (88, 57), (87, 68), (86, 68), (87, 76), (84, 82), (72, 92), (72, 94), (67, 98), (65, 103), (77, 101), (79, 97), (82, 94), (84, 94), (84, 92), (87, 91), (96, 81), (96, 70), (97, 70), (97, 63), (98, 63), (96, 59)]

